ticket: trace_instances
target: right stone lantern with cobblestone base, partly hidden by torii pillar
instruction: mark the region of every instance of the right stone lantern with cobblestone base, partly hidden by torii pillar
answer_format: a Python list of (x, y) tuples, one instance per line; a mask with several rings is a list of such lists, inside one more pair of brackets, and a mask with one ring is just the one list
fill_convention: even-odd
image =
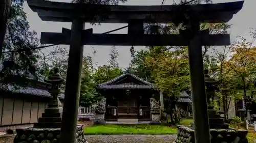
[[(217, 142), (233, 142), (233, 143), (248, 143), (246, 135), (247, 130), (237, 130), (229, 128), (228, 124), (224, 123), (224, 119), (217, 113), (214, 106), (211, 104), (211, 100), (214, 99), (217, 80), (210, 78), (208, 70), (204, 70), (205, 74), (205, 86), (206, 86), (206, 99), (208, 106), (209, 128), (210, 128), (210, 140), (211, 143)], [(191, 142), (195, 143), (195, 130), (194, 124), (190, 124), (190, 127), (184, 125), (178, 125), (178, 137), (175, 142)]]

